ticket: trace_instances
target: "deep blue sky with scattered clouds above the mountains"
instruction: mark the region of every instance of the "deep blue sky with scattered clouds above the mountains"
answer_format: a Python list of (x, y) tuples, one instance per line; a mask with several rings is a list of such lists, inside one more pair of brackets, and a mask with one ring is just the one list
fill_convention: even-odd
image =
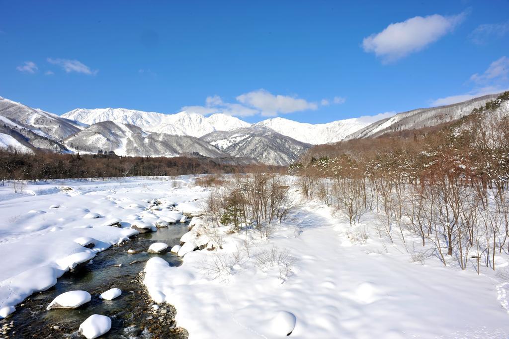
[(0, 96), (321, 123), (509, 88), (507, 1), (4, 1)]

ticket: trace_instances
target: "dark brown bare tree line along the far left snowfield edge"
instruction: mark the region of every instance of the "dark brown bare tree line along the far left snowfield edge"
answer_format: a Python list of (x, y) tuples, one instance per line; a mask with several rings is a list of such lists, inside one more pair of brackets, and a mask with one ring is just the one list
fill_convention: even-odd
[(264, 168), (262, 165), (225, 164), (210, 158), (118, 157), (114, 154), (63, 154), (47, 151), (23, 153), (0, 148), (0, 178), (5, 180), (48, 180), (62, 178), (109, 178), (167, 176), (182, 174), (238, 173)]

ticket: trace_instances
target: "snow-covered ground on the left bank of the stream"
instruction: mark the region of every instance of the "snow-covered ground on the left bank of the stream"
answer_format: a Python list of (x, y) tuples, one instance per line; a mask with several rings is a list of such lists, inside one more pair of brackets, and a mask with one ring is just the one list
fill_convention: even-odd
[[(49, 289), (70, 268), (128, 241), (138, 233), (130, 228), (133, 220), (129, 217), (140, 218), (142, 213), (156, 217), (144, 211), (147, 201), (167, 197), (185, 207), (208, 194), (201, 187), (187, 187), (191, 177), (177, 181), (182, 188), (173, 188), (172, 180), (155, 178), (54, 180), (27, 183), (24, 194), (15, 194), (12, 183), (6, 181), (0, 187), (0, 308), (15, 306), (32, 293)], [(62, 185), (73, 190), (62, 192)], [(52, 204), (61, 207), (49, 208)], [(83, 218), (90, 211), (103, 218)], [(181, 216), (177, 211), (174, 214)], [(103, 225), (113, 219), (125, 222), (122, 227)], [(94, 248), (84, 248), (80, 244), (84, 238), (93, 239)]]

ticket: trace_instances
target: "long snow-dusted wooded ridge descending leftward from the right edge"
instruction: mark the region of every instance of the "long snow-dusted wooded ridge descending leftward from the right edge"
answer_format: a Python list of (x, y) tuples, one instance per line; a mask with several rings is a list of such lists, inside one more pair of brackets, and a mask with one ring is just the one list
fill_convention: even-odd
[(474, 108), (484, 106), (487, 101), (499, 94), (489, 94), (453, 105), (416, 109), (402, 112), (393, 117), (376, 121), (346, 137), (347, 140), (373, 138), (386, 133), (406, 131), (413, 128), (436, 126), (444, 122), (460, 119), (472, 113)]

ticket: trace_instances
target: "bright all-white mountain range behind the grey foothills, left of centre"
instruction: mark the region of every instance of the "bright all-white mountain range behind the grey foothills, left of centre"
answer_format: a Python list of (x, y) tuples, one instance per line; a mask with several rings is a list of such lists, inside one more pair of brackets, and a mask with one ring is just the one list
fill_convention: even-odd
[(249, 123), (225, 114), (212, 114), (205, 117), (193, 112), (162, 114), (143, 112), (123, 108), (76, 109), (62, 115), (64, 118), (77, 120), (92, 125), (102, 121), (113, 121), (131, 124), (147, 132), (171, 135), (201, 137), (214, 131), (246, 127)]

